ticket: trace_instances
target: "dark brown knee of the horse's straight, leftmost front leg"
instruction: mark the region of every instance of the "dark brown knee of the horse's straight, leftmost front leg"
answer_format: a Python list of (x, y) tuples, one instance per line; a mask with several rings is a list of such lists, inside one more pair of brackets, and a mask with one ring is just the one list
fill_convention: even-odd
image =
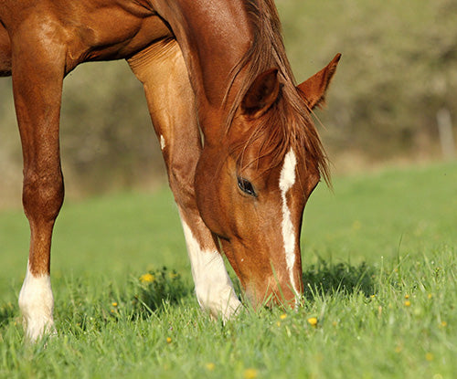
[(27, 217), (53, 222), (63, 204), (64, 184), (61, 172), (40, 174), (26, 170), (24, 175), (23, 205)]

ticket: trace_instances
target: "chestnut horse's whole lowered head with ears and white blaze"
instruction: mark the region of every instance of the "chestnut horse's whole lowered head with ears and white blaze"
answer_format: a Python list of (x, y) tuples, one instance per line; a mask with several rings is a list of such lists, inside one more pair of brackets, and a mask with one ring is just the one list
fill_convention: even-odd
[(327, 175), (310, 113), (339, 58), (297, 87), (276, 68), (261, 73), (197, 164), (198, 210), (254, 307), (294, 304), (303, 291), (303, 209)]

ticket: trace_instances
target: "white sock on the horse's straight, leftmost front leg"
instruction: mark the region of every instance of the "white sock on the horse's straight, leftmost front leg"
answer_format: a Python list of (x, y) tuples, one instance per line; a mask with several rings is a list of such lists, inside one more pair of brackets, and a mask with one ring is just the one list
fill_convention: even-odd
[(34, 342), (45, 332), (54, 332), (54, 298), (48, 275), (34, 276), (27, 264), (26, 279), (19, 293), (27, 339)]

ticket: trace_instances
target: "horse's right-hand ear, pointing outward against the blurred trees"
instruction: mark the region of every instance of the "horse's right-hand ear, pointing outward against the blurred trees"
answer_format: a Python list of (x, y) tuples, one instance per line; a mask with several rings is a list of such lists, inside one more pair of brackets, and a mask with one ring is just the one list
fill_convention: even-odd
[(310, 110), (316, 106), (322, 107), (325, 104), (325, 91), (334, 77), (340, 58), (341, 54), (336, 54), (335, 58), (327, 66), (297, 86), (300, 95), (302, 95)]

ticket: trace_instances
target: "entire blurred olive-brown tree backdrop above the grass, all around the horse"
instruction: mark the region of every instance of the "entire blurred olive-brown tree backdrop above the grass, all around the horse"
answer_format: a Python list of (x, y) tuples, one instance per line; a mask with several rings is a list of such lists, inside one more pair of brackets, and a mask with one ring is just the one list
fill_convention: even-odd
[[(288, 56), (303, 81), (341, 52), (318, 111), (334, 172), (442, 158), (437, 112), (457, 124), (455, 0), (277, 0)], [(65, 80), (67, 194), (165, 181), (143, 89), (124, 61), (84, 64)], [(22, 156), (10, 79), (0, 79), (0, 206), (19, 206)]]

